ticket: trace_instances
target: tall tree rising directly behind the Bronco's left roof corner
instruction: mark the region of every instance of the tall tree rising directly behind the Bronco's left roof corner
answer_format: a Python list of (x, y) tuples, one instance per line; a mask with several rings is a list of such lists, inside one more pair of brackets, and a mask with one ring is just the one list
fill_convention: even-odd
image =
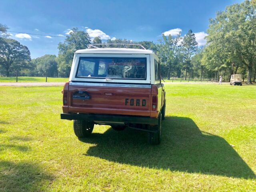
[(61, 75), (69, 75), (74, 52), (79, 49), (86, 49), (88, 44), (90, 44), (88, 33), (79, 31), (78, 28), (72, 28), (64, 42), (58, 44), (58, 71)]

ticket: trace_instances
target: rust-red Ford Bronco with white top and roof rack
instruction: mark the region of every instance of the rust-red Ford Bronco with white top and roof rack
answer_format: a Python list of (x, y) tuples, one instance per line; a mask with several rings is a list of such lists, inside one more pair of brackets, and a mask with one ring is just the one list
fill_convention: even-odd
[(94, 124), (105, 124), (146, 131), (148, 142), (159, 144), (166, 106), (159, 59), (141, 45), (98, 45), (74, 53), (61, 119), (74, 120), (78, 138), (89, 136)]

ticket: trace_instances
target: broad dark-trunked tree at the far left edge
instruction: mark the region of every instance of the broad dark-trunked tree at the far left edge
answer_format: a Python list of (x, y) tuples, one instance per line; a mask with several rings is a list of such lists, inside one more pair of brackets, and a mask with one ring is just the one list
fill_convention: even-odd
[(19, 63), (30, 60), (30, 51), (26, 46), (14, 39), (0, 38), (0, 65), (6, 70), (7, 77)]

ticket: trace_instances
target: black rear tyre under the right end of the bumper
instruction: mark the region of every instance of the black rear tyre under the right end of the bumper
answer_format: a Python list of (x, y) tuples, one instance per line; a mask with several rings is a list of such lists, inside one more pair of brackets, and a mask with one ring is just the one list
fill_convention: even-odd
[(152, 145), (160, 144), (161, 131), (162, 131), (162, 113), (158, 117), (158, 125), (150, 127), (150, 130), (156, 130), (157, 132), (148, 132), (148, 143)]

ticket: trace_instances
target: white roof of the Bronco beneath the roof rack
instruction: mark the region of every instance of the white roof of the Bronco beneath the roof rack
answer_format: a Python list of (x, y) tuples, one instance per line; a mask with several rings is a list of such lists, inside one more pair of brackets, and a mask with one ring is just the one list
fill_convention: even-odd
[(81, 50), (77, 50), (75, 53), (153, 54), (154, 52), (151, 50), (130, 49), (130, 48), (95, 48), (95, 49), (81, 49)]

